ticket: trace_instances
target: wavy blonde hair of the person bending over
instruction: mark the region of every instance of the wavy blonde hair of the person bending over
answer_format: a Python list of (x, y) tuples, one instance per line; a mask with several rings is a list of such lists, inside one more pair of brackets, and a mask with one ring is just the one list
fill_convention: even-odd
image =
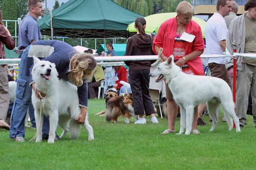
[(96, 67), (96, 60), (89, 53), (75, 53), (70, 59), (69, 79), (76, 85), (83, 85), (83, 79), (90, 79), (93, 75), (93, 70)]

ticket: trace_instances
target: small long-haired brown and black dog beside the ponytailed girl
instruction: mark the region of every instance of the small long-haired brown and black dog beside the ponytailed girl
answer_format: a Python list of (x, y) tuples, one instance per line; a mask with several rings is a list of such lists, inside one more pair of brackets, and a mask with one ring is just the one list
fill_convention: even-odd
[(119, 116), (125, 116), (125, 123), (130, 123), (130, 116), (135, 118), (131, 93), (125, 94), (125, 96), (112, 97), (108, 100), (106, 107), (107, 122), (111, 120), (117, 122)]

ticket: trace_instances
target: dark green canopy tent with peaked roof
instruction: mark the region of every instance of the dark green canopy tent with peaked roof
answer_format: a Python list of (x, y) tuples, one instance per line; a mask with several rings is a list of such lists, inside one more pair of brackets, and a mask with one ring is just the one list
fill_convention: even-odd
[[(55, 36), (72, 38), (129, 37), (127, 25), (143, 17), (111, 0), (69, 0), (52, 11)], [(51, 15), (38, 21), (41, 33), (51, 35)]]

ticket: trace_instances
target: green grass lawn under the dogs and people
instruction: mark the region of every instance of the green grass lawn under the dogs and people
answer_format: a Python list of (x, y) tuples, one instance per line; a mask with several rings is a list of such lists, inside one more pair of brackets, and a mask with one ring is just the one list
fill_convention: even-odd
[[(9, 139), (7, 130), (0, 129), (1, 170), (250, 170), (256, 169), (256, 128), (252, 116), (241, 133), (227, 130), (227, 123), (220, 122), (214, 132), (207, 123), (198, 127), (199, 135), (161, 135), (167, 128), (165, 118), (159, 124), (146, 125), (107, 123), (104, 117), (94, 116), (105, 109), (105, 100), (90, 99), (89, 122), (93, 126), (94, 141), (87, 140), (83, 128), (76, 140), (67, 135), (55, 144), (28, 142), (35, 129), (26, 128), (25, 143)], [(176, 132), (180, 129), (176, 123)], [(61, 129), (58, 128), (58, 134)]]

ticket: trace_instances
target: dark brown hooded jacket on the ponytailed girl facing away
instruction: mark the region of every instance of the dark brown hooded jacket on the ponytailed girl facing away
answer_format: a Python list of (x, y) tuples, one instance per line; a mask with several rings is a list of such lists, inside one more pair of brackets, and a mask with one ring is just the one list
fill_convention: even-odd
[[(140, 37), (140, 34), (134, 34), (128, 39), (125, 56), (137, 56), (137, 55), (155, 55), (152, 51), (152, 38), (146, 34), (145, 40)], [(150, 70), (151, 64), (154, 60), (137, 60), (137, 61), (125, 61), (125, 64), (129, 66), (129, 71), (132, 70)]]

